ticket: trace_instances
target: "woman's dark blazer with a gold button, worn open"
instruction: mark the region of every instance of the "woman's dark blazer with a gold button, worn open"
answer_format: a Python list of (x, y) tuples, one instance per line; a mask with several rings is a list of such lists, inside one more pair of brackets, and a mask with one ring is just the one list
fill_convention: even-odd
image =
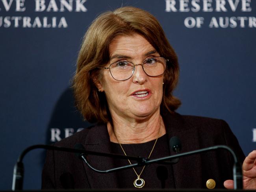
[[(230, 146), (240, 162), (245, 158), (236, 137), (223, 120), (178, 113), (162, 114), (168, 138), (177, 136), (182, 151), (192, 151), (214, 145)], [(106, 125), (96, 125), (57, 142), (55, 146), (74, 148), (83, 144), (86, 150), (110, 153)], [(170, 155), (174, 152), (170, 150)], [(88, 156), (99, 170), (114, 168), (109, 157)], [(175, 188), (206, 188), (206, 181), (214, 179), (215, 188), (223, 188), (226, 179), (232, 179), (233, 157), (228, 151), (217, 150), (181, 157), (173, 165)], [(100, 174), (91, 170), (73, 153), (48, 151), (42, 173), (42, 188), (120, 188), (115, 173)]]

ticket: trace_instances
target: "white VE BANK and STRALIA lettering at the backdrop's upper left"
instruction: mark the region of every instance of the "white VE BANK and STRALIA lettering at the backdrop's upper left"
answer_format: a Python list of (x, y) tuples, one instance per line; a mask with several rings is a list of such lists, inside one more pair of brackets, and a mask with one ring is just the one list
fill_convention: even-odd
[[(35, 0), (34, 12), (86, 12), (87, 0)], [(31, 1), (30, 1), (31, 3)], [(25, 0), (1, 0), (0, 13), (5, 11), (25, 12)], [(65, 17), (0, 17), (0, 28), (67, 28)]]

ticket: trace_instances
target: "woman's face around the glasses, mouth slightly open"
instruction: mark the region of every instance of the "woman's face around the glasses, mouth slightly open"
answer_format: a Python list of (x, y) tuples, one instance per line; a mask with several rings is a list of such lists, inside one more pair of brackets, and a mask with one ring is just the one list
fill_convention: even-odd
[[(160, 56), (156, 49), (141, 35), (117, 37), (109, 46), (110, 62), (130, 61), (140, 64), (150, 57)], [(103, 70), (101, 82), (96, 83), (98, 89), (106, 94), (109, 111), (115, 116), (126, 119), (145, 119), (160, 112), (163, 96), (163, 75), (150, 77), (145, 74), (141, 65), (135, 66), (130, 79), (117, 81), (109, 70)]]

